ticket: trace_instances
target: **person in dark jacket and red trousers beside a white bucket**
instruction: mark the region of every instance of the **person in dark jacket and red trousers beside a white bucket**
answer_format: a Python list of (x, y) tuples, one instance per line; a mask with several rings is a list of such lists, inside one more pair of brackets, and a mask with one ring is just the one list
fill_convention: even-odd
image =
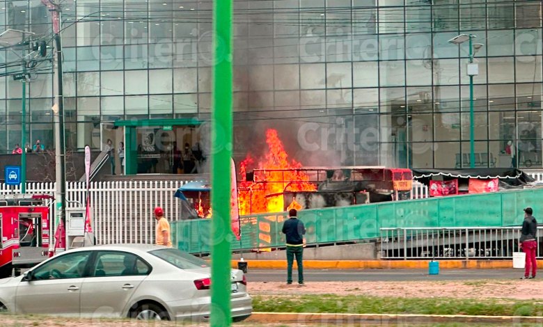
[[(535, 278), (537, 271), (537, 261), (535, 260), (535, 253), (537, 252), (537, 221), (532, 214), (532, 208), (528, 207), (524, 209), (524, 221), (522, 222), (519, 246), (526, 253), (526, 266), (524, 267), (524, 276), (521, 279)], [(532, 270), (531, 277), (530, 268)]]

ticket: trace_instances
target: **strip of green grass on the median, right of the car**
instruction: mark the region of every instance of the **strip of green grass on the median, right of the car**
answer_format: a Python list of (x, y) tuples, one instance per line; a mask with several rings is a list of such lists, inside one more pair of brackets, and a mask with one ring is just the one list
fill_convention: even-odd
[(316, 312), (353, 314), (465, 314), (485, 316), (541, 316), (543, 303), (503, 298), (398, 298), (340, 296), (254, 296), (256, 312)]

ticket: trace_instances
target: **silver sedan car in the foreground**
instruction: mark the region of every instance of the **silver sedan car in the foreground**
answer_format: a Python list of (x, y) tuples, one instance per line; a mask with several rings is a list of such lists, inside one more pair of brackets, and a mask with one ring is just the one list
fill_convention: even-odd
[[(251, 315), (244, 273), (232, 269), (235, 321)], [(22, 276), (0, 280), (0, 308), (21, 314), (202, 321), (210, 317), (211, 271), (194, 255), (127, 244), (66, 251)]]

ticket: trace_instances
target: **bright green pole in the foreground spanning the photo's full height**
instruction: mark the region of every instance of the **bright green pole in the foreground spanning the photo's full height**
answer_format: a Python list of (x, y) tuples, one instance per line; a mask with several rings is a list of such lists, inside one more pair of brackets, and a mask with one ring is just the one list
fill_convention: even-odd
[(233, 0), (213, 1), (213, 109), (211, 156), (211, 326), (232, 324), (230, 312), (230, 158), (232, 157)]

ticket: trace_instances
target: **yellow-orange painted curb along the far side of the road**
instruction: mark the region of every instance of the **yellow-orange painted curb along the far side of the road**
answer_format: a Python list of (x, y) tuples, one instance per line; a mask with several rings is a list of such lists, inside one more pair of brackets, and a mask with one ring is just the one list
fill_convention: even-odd
[[(304, 260), (304, 269), (428, 269), (431, 260)], [(512, 260), (437, 260), (440, 269), (512, 269)], [(232, 260), (237, 268), (238, 260)], [(286, 260), (245, 260), (247, 268), (287, 269)], [(296, 262), (294, 262), (294, 267)], [(537, 262), (543, 269), (543, 261)]]

